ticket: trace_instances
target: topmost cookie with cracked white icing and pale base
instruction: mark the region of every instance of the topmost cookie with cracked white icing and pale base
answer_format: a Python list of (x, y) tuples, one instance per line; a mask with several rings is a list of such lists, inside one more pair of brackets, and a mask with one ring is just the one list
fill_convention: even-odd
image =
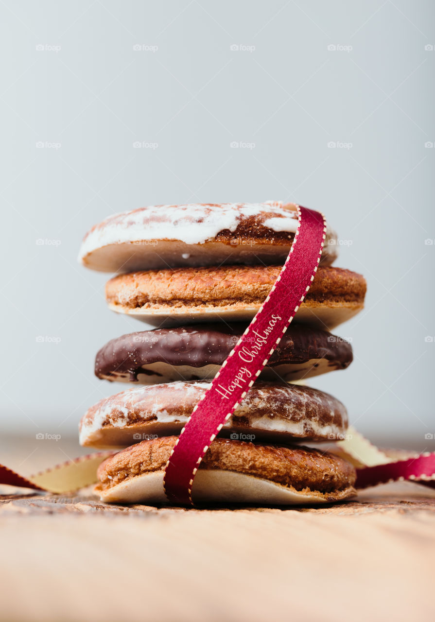
[[(283, 264), (296, 228), (293, 203), (153, 205), (93, 226), (78, 259), (101, 272)], [(320, 263), (332, 264), (337, 249), (337, 236), (328, 227)]]

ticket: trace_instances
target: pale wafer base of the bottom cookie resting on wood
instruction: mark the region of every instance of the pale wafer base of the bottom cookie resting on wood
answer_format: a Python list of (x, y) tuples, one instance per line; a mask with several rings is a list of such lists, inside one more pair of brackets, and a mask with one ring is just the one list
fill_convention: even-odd
[[(98, 490), (106, 503), (167, 503), (163, 488), (163, 471), (136, 475), (108, 490)], [(347, 499), (355, 494), (352, 486), (335, 493), (296, 491), (245, 473), (199, 470), (192, 488), (195, 503), (250, 503), (261, 505), (311, 505)]]

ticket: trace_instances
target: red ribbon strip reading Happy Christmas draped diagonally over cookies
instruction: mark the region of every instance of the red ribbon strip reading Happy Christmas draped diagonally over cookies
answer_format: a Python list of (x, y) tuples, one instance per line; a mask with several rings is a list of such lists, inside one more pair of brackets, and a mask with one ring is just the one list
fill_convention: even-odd
[(194, 477), (210, 443), (258, 378), (314, 279), (326, 223), (318, 211), (305, 207), (298, 211), (299, 225), (278, 279), (195, 406), (172, 450), (164, 476), (166, 496), (172, 503), (192, 504)]

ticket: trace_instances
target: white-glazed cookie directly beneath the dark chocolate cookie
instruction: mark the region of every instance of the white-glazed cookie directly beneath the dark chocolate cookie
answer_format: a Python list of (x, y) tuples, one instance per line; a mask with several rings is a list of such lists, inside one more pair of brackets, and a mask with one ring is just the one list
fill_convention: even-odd
[[(80, 443), (121, 448), (138, 440), (180, 434), (207, 382), (139, 385), (105, 397), (83, 415)], [(223, 389), (222, 389), (223, 391)], [(257, 381), (223, 427), (240, 440), (339, 440), (347, 411), (335, 397), (306, 386)]]

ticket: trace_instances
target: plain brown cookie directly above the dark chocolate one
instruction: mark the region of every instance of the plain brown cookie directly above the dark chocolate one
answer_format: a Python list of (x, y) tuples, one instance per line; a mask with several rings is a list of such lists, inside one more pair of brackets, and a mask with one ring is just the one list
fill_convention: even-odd
[[(106, 284), (110, 309), (151, 323), (251, 319), (281, 266), (178, 268), (120, 274)], [(365, 278), (357, 272), (319, 267), (295, 320), (330, 329), (363, 307)]]

